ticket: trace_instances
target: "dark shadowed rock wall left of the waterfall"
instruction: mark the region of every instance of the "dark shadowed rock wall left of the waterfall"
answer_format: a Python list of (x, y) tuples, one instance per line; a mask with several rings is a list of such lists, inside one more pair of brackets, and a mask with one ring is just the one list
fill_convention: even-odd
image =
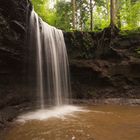
[[(0, 108), (22, 102), (27, 61), (28, 0), (0, 1)], [(25, 83), (25, 81), (24, 81)]]

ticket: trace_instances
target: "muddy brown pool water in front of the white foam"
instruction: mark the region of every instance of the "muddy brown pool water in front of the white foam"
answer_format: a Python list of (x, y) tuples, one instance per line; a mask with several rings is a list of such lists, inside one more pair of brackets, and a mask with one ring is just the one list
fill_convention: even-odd
[(140, 106), (85, 106), (65, 118), (15, 122), (0, 140), (140, 140)]

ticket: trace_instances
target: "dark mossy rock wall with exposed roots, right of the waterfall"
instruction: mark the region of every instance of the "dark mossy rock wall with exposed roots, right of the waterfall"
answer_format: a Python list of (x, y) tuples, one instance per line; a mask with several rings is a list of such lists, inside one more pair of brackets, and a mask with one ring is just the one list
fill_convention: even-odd
[(73, 96), (140, 98), (140, 34), (66, 33)]

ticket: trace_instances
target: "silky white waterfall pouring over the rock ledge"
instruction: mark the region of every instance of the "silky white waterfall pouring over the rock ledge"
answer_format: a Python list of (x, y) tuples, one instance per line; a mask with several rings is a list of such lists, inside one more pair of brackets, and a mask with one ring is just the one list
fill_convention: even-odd
[(48, 25), (32, 11), (30, 45), (36, 49), (37, 94), (40, 106), (69, 103), (70, 78), (63, 32)]

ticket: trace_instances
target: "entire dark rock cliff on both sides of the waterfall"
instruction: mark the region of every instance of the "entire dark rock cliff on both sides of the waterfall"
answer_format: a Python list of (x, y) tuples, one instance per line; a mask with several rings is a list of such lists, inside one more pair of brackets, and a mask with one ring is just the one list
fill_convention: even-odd
[[(28, 87), (34, 50), (26, 38), (31, 9), (28, 0), (0, 1), (0, 108), (30, 101), (34, 93)], [(74, 98), (140, 98), (140, 36), (117, 33), (64, 33)]]

